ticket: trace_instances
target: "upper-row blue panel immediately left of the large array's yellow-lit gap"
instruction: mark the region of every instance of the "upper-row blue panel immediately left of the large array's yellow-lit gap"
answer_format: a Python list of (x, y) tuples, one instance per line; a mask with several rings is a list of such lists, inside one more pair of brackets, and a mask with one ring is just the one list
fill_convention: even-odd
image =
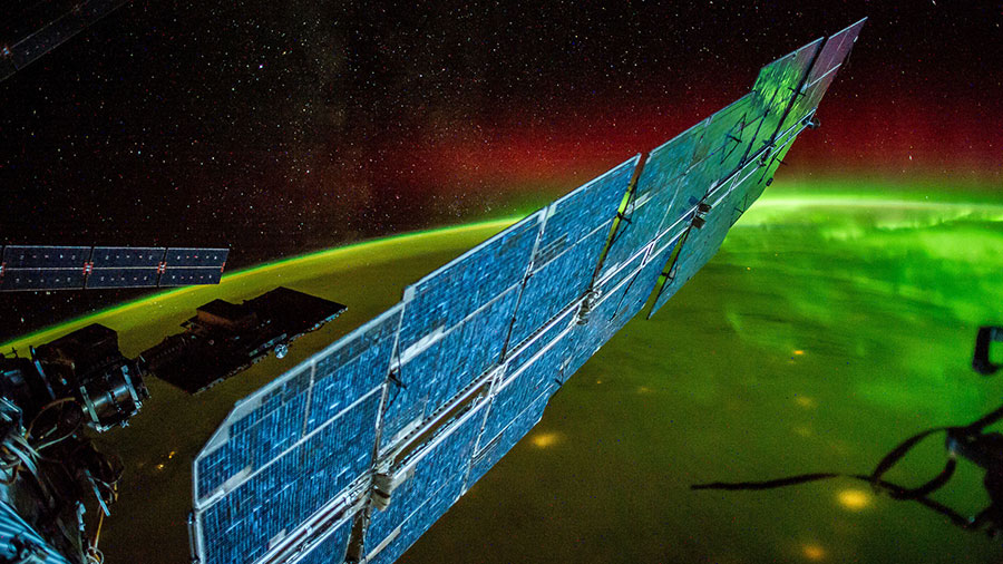
[(592, 282), (617, 207), (640, 157), (634, 157), (551, 204), (509, 342), (517, 346)]

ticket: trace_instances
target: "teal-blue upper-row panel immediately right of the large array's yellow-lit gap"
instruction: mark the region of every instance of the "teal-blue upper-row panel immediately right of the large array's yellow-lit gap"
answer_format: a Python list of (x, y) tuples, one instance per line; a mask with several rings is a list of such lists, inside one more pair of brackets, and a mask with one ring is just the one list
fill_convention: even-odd
[(640, 252), (660, 228), (668, 227), (663, 224), (666, 216), (673, 218), (671, 225), (681, 211), (693, 207), (703, 196), (702, 193), (694, 196), (690, 185), (680, 178), (693, 164), (697, 144), (705, 126), (707, 120), (701, 121), (651, 152), (642, 165), (633, 197), (624, 210), (624, 220), (619, 223), (606, 252), (601, 278)]

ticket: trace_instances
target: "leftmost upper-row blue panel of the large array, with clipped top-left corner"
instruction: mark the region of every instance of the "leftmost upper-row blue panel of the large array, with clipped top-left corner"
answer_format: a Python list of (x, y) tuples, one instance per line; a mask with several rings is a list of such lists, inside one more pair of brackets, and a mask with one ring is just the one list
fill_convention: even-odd
[(206, 564), (253, 561), (368, 475), (400, 311), (237, 405), (203, 449), (195, 494)]

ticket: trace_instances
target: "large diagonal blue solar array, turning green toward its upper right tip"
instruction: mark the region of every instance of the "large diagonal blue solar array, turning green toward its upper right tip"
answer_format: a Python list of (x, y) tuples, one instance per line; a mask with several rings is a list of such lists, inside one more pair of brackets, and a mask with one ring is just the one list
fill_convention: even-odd
[(425, 276), (238, 402), (195, 460), (193, 557), (396, 561), (660, 280), (652, 312), (710, 260), (859, 29), (768, 65), (749, 95)]

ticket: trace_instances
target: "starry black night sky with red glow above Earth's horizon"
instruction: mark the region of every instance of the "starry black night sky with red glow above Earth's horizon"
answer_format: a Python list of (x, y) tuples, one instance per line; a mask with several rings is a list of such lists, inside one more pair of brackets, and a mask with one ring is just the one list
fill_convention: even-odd
[[(783, 174), (1003, 188), (1003, 3), (805, 3), (136, 0), (0, 82), (0, 242), (232, 270), (528, 212), (864, 16)], [(6, 337), (138, 294), (9, 295)]]

